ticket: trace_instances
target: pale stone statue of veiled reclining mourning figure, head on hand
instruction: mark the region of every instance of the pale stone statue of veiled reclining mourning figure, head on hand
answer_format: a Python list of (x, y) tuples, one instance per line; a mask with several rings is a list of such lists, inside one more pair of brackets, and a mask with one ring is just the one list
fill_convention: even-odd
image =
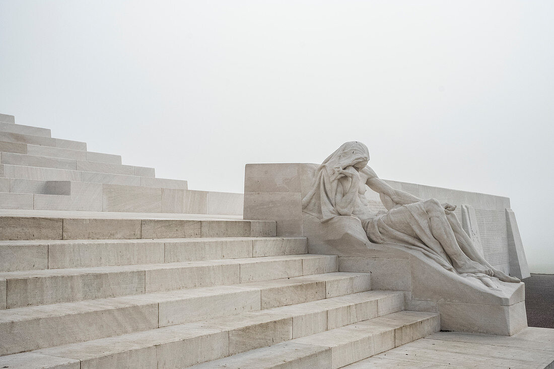
[[(302, 210), (321, 223), (338, 216), (356, 217), (372, 243), (417, 250), (443, 268), (477, 278), (491, 288), (495, 288), (494, 278), (520, 282), (495, 269), (478, 252), (453, 213), (456, 206), (392, 188), (367, 166), (369, 160), (362, 142), (343, 143), (317, 168)], [(368, 206), (366, 185), (379, 193), (386, 212)]]

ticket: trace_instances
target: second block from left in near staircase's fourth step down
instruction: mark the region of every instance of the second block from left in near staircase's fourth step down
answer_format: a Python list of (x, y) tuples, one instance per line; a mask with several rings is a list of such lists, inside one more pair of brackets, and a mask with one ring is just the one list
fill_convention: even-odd
[[(160, 326), (260, 310), (260, 291), (237, 286), (171, 291), (160, 301)], [(217, 309), (214, 309), (217, 306)]]

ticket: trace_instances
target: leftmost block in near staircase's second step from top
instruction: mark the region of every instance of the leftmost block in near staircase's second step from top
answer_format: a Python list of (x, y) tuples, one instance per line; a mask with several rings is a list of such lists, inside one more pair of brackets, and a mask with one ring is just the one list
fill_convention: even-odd
[(48, 269), (47, 243), (0, 242), (0, 271)]

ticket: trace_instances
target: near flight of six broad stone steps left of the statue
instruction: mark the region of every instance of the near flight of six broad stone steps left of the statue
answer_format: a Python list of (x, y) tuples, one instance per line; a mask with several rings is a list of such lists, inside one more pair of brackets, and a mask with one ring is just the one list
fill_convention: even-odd
[(0, 367), (338, 368), (439, 330), (275, 222), (61, 214), (0, 217)]

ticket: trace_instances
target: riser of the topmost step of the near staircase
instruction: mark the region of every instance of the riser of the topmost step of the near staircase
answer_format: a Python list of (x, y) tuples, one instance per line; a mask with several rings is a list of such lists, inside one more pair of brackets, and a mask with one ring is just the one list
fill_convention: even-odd
[[(48, 196), (48, 195), (44, 195)], [(251, 224), (254, 224), (251, 226)], [(0, 239), (149, 239), (266, 237), (276, 235), (269, 221), (188, 221), (176, 219), (70, 219), (0, 217)]]

